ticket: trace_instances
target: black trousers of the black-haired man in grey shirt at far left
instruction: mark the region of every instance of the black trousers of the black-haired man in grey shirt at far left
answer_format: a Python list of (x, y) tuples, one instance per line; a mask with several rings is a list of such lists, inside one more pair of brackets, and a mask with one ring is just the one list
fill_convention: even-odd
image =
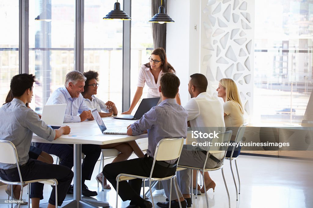
[[(26, 164), (20, 166), (20, 171), (23, 181), (55, 178), (58, 181), (58, 206), (62, 205), (74, 176), (73, 171), (66, 166), (48, 164), (33, 159), (29, 159)], [(0, 170), (0, 176), (7, 181), (20, 181), (17, 167)], [(32, 183), (29, 197), (43, 199), (43, 189), (44, 184)], [(55, 186), (51, 191), (49, 203), (55, 205)]]

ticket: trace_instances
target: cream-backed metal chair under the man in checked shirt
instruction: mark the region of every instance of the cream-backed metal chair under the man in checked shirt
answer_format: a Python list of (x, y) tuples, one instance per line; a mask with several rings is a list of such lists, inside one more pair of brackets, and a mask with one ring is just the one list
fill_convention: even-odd
[[(121, 173), (116, 177), (117, 185), (116, 185), (116, 206), (117, 207), (117, 202), (118, 202), (118, 189), (119, 189), (119, 182), (120, 181), (126, 181), (126, 180), (132, 180), (135, 178), (140, 178), (143, 179), (143, 182), (145, 180), (149, 181), (149, 190), (150, 190), (150, 195), (151, 195), (151, 201), (152, 201), (152, 206), (154, 208), (154, 203), (153, 203), (153, 197), (152, 197), (152, 190), (151, 190), (151, 181), (164, 181), (170, 179), (170, 201), (171, 201), (171, 195), (172, 195), (172, 179), (174, 178), (174, 186), (175, 186), (175, 191), (178, 196), (178, 191), (177, 191), (177, 186), (176, 186), (176, 174), (172, 176), (167, 176), (164, 178), (153, 178), (152, 173), (154, 169), (154, 165), (156, 161), (168, 161), (168, 160), (175, 160), (177, 159), (177, 164), (179, 160), (180, 153), (182, 152), (182, 146), (184, 144), (184, 139), (183, 137), (180, 138), (172, 138), (172, 139), (162, 139), (159, 141), (159, 143), (156, 146), (154, 158), (153, 158), (153, 163), (151, 167), (151, 172), (150, 176), (136, 176), (136, 175), (131, 175), (131, 174), (124, 174)], [(178, 200), (179, 201), (179, 200)], [(171, 203), (169, 203), (171, 208)], [(182, 205), (179, 201), (179, 207), (182, 208)]]

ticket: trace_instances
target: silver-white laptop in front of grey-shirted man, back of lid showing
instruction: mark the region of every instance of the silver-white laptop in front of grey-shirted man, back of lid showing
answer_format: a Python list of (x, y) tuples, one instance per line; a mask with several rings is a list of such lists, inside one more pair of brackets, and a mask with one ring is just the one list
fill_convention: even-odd
[(45, 105), (41, 115), (41, 121), (49, 126), (64, 126), (66, 104)]

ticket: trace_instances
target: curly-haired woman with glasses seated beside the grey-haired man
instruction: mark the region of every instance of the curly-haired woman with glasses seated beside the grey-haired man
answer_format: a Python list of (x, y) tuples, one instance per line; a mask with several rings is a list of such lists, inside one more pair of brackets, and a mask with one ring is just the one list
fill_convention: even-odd
[[(96, 108), (101, 117), (117, 115), (117, 109), (116, 109), (114, 102), (108, 101), (105, 103), (99, 98), (95, 97), (95, 95), (97, 94), (97, 89), (99, 87), (98, 72), (88, 71), (84, 73), (84, 76), (87, 79), (85, 81), (84, 92), (82, 92), (82, 95), (85, 98), (86, 105), (91, 109)], [(115, 157), (115, 159), (112, 162), (119, 162), (119, 161), (127, 160), (131, 156), (132, 152), (134, 152), (136, 156), (138, 157), (144, 156), (143, 152), (141, 151), (140, 147), (137, 145), (136, 141), (100, 145), (100, 147), (101, 149), (114, 148), (121, 152), (118, 156)], [(96, 180), (100, 184), (102, 184), (102, 177), (103, 177), (102, 173), (96, 176)], [(111, 189), (110, 185), (107, 184), (105, 178), (104, 178), (104, 183), (102, 184), (102, 186), (104, 189)]]

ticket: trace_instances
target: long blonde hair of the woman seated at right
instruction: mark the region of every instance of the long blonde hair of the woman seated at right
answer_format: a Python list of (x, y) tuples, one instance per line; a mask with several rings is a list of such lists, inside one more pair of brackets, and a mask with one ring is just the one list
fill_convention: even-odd
[(241, 100), (239, 96), (239, 91), (238, 91), (235, 81), (229, 78), (223, 78), (219, 81), (219, 83), (222, 85), (222, 87), (225, 88), (226, 101), (235, 102), (239, 106), (241, 113), (244, 113), (243, 106), (241, 104)]

